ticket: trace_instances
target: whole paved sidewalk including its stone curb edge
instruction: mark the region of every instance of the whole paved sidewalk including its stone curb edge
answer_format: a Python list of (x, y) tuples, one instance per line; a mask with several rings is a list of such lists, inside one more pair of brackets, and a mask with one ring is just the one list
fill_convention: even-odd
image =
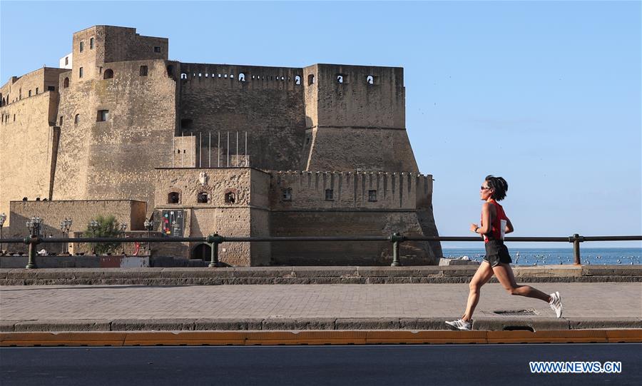
[[(641, 283), (535, 286), (546, 293), (559, 290), (564, 318), (554, 318), (541, 300), (511, 296), (500, 285), (488, 284), (475, 313), (481, 320), (477, 327), (486, 322), (486, 329), (501, 329), (515, 318), (551, 329), (564, 323), (566, 328), (642, 327)], [(0, 287), (0, 321), (9, 331), (29, 330), (29, 325), (73, 330), (74, 324), (79, 330), (159, 330), (170, 329), (168, 322), (172, 330), (439, 328), (442, 320), (463, 313), (467, 295), (465, 284), (20, 285)], [(528, 316), (496, 313), (519, 310), (529, 311)], [(422, 318), (434, 320), (417, 324)]]

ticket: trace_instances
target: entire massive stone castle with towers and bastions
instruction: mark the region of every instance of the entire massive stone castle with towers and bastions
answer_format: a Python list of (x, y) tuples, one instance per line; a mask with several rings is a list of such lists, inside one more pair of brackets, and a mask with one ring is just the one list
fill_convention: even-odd
[[(168, 236), (437, 235), (405, 127), (403, 68), (168, 60), (168, 39), (93, 26), (61, 68), (0, 90), (4, 237), (116, 215)], [(7, 226), (8, 225), (8, 226)], [(390, 243), (223, 243), (229, 265), (389, 263)], [(12, 248), (19, 248), (14, 246)], [(209, 258), (203, 243), (154, 254)], [(402, 243), (434, 264), (439, 243)]]

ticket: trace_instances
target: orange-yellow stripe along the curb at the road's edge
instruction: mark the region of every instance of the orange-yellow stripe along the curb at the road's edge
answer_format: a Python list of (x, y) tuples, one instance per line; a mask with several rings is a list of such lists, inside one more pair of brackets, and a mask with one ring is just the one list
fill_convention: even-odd
[(642, 342), (642, 329), (0, 332), (0, 347)]

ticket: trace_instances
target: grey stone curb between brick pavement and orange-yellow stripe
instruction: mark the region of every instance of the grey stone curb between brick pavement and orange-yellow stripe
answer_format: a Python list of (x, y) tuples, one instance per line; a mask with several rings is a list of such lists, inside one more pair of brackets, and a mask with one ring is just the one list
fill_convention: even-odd
[[(449, 330), (444, 318), (253, 318), (1, 320), (0, 332), (76, 331), (283, 331), (283, 330)], [(641, 329), (641, 318), (477, 318), (473, 330), (546, 331)]]

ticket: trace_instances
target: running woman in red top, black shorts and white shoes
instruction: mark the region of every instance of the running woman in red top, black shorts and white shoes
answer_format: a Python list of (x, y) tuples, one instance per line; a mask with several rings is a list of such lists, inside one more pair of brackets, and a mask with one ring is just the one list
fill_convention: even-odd
[(544, 300), (551, 305), (557, 318), (561, 318), (562, 305), (559, 292), (546, 295), (529, 285), (517, 285), (515, 282), (510, 265), (513, 261), (508, 248), (504, 245), (504, 235), (514, 230), (513, 224), (506, 217), (504, 208), (501, 208), (501, 205), (497, 203), (506, 197), (506, 191), (508, 191), (508, 183), (501, 177), (487, 176), (484, 183), (481, 184), (479, 197), (484, 201), (484, 204), (481, 205), (481, 223), (480, 225), (471, 224), (470, 230), (484, 238), (486, 256), (470, 281), (470, 293), (464, 316), (459, 320), (446, 322), (459, 330), (470, 330), (472, 315), (479, 302), (481, 286), (486, 284), (493, 275), (509, 294)]

